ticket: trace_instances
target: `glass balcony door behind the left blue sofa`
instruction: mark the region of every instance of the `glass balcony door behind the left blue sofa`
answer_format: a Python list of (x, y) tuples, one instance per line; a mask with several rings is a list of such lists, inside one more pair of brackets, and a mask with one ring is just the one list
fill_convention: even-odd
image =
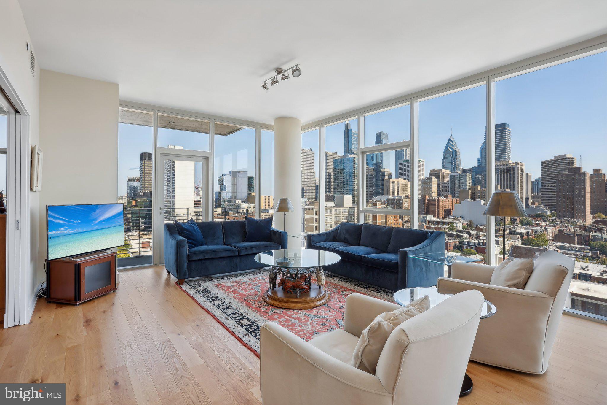
[(165, 223), (209, 220), (208, 157), (169, 151), (157, 153), (156, 162), (155, 261), (163, 264)]

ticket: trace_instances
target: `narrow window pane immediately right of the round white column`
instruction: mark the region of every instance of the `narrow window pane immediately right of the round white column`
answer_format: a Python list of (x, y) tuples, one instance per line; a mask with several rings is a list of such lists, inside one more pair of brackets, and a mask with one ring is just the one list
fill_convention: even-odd
[(302, 132), (302, 236), (319, 231), (319, 130)]

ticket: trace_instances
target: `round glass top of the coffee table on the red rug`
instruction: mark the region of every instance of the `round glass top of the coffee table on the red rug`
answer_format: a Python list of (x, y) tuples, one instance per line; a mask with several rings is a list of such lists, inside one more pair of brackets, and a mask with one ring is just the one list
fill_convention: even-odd
[(341, 260), (338, 254), (316, 249), (279, 249), (259, 253), (255, 260), (266, 266), (283, 268), (322, 267)]

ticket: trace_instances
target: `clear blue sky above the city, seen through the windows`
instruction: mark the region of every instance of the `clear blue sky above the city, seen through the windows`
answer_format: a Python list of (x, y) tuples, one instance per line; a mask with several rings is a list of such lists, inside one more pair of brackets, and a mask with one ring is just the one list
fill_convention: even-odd
[[(540, 177), (541, 160), (566, 153), (574, 155), (578, 165), (581, 155), (583, 169), (588, 172), (607, 171), (607, 52), (498, 81), (495, 89), (495, 120), (510, 124), (512, 160), (523, 162), (534, 179)], [(476, 165), (486, 123), (485, 94), (486, 87), (479, 86), (419, 103), (419, 157), (426, 160), (426, 175), (430, 169), (441, 168), (450, 126), (462, 166)], [(351, 128), (358, 128), (358, 120), (350, 123)], [(379, 131), (387, 132), (389, 141), (409, 140), (409, 106), (368, 115), (365, 125), (366, 146), (375, 143), (375, 132)], [(139, 175), (140, 152), (152, 151), (153, 131), (128, 124), (119, 128), (118, 192), (125, 194), (126, 176)], [(208, 145), (206, 134), (163, 131), (160, 140), (166, 145)], [(273, 194), (273, 136), (263, 132), (261, 193), (268, 195)], [(302, 134), (302, 148), (312, 148), (316, 159), (317, 134)], [(327, 127), (327, 151), (343, 153), (343, 134), (344, 123)], [(228, 170), (246, 170), (254, 175), (254, 147), (253, 129), (216, 137), (214, 189), (217, 175)], [(393, 154), (385, 161), (385, 166), (394, 171)]]

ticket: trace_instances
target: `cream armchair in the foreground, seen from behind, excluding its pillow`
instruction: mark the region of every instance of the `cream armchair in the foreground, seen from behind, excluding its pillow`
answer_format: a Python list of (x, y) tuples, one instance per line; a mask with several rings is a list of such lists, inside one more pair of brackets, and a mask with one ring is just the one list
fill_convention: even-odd
[(266, 322), (263, 404), (456, 404), (482, 304), (481, 293), (466, 291), (402, 322), (384, 345), (375, 375), (350, 366), (350, 359), (362, 331), (399, 305), (350, 294), (344, 330), (309, 342)]

